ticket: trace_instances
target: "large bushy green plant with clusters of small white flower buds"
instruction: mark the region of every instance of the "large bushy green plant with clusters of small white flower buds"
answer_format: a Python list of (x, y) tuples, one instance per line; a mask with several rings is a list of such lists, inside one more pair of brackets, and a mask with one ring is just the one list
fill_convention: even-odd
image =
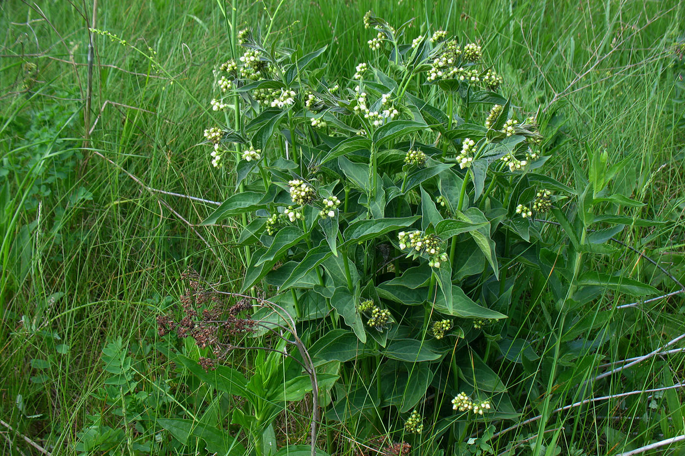
[[(244, 53), (215, 71), (223, 119), (204, 131), (235, 192), (203, 224), (239, 217), (241, 292), (260, 288), (295, 316), (314, 364), (336, 376), (325, 422), (370, 441), (383, 428), (401, 451), (424, 429), (434, 446), (447, 432), (451, 448), (482, 420), (516, 416), (488, 363), (528, 283), (540, 292), (551, 277), (563, 312), (591, 299), (576, 279), (582, 254), (601, 253), (586, 233), (606, 182), (574, 190), (538, 173), (549, 156), (536, 114), (514, 109), (476, 43), (443, 30), (405, 39), (408, 23), (371, 12), (364, 26), (375, 58), (351, 79), (314, 66), (325, 47), (237, 34)], [(569, 222), (556, 205), (578, 195)], [(560, 273), (546, 212), (571, 240)], [(593, 277), (583, 283), (621, 290)]]

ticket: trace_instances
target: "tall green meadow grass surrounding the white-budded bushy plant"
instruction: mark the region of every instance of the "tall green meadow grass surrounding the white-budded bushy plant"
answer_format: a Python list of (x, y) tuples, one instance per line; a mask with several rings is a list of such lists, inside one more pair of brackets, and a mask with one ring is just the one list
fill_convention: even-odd
[[(101, 414), (103, 424), (121, 427), (118, 407), (105, 407), (93, 397), (110, 377), (103, 370), (103, 346), (121, 338), (147, 390), (171, 385), (178, 378), (153, 349), (158, 342), (154, 318), (171, 304), (166, 296), (179, 294), (177, 277), (190, 265), (227, 286), (242, 277), (244, 253), (232, 226), (195, 226), (211, 206), (145, 188), (212, 201), (232, 194), (229, 170), (212, 170), (206, 149), (197, 145), (202, 129), (212, 124), (213, 114), (206, 110), (212, 69), (229, 57), (229, 22), (221, 5), (163, 0), (100, 5), (97, 28), (143, 51), (154, 49), (164, 72), (160, 76), (130, 47), (95, 36), (90, 150), (79, 147), (91, 6), (2, 6), (0, 375), (5, 381), (0, 419), (14, 429), (1, 434), (3, 453), (36, 453), (25, 435), (53, 454), (73, 454), (77, 432), (92, 422), (88, 416)], [(261, 30), (275, 15), (272, 34), (292, 47), (328, 45), (321, 60), (331, 79), (350, 77), (358, 62), (373, 62), (366, 47), (372, 33), (360, 34), (369, 9), (395, 24), (416, 18), (410, 36), (425, 33), (428, 22), (479, 40), (525, 110), (539, 107), (549, 114), (547, 129), (559, 131), (560, 140), (549, 151), (557, 179), (573, 186), (580, 170), (588, 168), (586, 147), (606, 149), (610, 164), (629, 160), (613, 190), (647, 203), (629, 215), (673, 223), (628, 227), (621, 240), (662, 257), (664, 266), (671, 264), (673, 274), (685, 280), (685, 131), (678, 126), (682, 105), (675, 102), (682, 91), (674, 85), (675, 59), (669, 53), (684, 32), (682, 2), (294, 0), (280, 8), (275, 1), (238, 2), (236, 8), (240, 24)], [(175, 84), (164, 74), (173, 75)], [(599, 266), (611, 272), (625, 264), (633, 265), (636, 277), (647, 275), (671, 290), (673, 283), (634, 253)], [(612, 305), (612, 299), (600, 296), (597, 309)], [(537, 322), (547, 307), (551, 320), (547, 333), (539, 335), (545, 341), (540, 347), (553, 354), (558, 334), (570, 338), (573, 326), (560, 327), (553, 307), (538, 305), (518, 310)], [(579, 318), (599, 318), (597, 309), (585, 309)], [(547, 420), (502, 435), (502, 444), (534, 444), (535, 438), (526, 439), (539, 433), (546, 444), (554, 439), (567, 450), (615, 454), (684, 433), (680, 390), (612, 399), (601, 414), (586, 407), (551, 412), (597, 395), (682, 381), (681, 353), (652, 357), (621, 378), (610, 377), (597, 391), (576, 390), (571, 381), (590, 379), (597, 364), (646, 355), (684, 333), (682, 315), (680, 296), (651, 303), (644, 311), (616, 311), (595, 324), (598, 337), (607, 339), (601, 353), (588, 353), (571, 372), (564, 370), (567, 383), (548, 382), (552, 366), (540, 365), (547, 391), (531, 379), (499, 372), (530, 403), (550, 398), (543, 409), (525, 409), (526, 416), (545, 414)], [(544, 362), (550, 359), (560, 369), (568, 367), (560, 357)], [(562, 427), (564, 433), (558, 431)], [(112, 447), (112, 454), (134, 451), (131, 436), (137, 432), (126, 428), (127, 443)], [(673, 454), (682, 452), (678, 448)]]

